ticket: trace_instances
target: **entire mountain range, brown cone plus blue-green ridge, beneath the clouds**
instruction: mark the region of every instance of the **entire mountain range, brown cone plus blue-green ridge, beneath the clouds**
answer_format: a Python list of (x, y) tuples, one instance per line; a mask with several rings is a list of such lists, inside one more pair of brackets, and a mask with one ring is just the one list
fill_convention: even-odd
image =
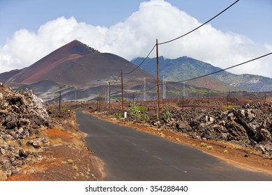
[[(178, 59), (160, 57), (159, 60), (160, 91), (165, 88), (167, 93), (165, 98), (180, 98), (181, 94), (186, 97), (206, 95), (209, 91), (207, 88), (212, 89), (213, 94), (220, 94), (221, 91), (243, 91), (245, 88), (249, 91), (272, 91), (269, 78), (234, 75), (226, 71), (188, 81), (186, 84), (168, 83), (167, 86), (163, 86), (163, 77), (167, 81), (182, 81), (221, 69), (189, 57)], [(0, 81), (15, 89), (32, 89), (33, 93), (45, 101), (58, 100), (59, 92), (62, 100), (96, 100), (102, 91), (106, 96), (110, 83), (111, 98), (118, 100), (121, 97), (120, 82), (123, 70), (124, 93), (128, 100), (132, 98), (155, 100), (156, 59), (146, 59), (141, 68), (137, 68), (137, 65), (142, 62), (142, 58), (132, 62), (115, 54), (100, 53), (78, 40), (73, 40), (29, 67), (0, 73)]]

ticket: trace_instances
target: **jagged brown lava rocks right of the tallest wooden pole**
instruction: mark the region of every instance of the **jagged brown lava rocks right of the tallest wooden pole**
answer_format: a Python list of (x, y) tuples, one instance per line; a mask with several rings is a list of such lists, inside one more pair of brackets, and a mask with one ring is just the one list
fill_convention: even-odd
[(272, 157), (272, 102), (229, 110), (168, 109), (162, 116), (163, 120), (153, 121), (153, 125), (186, 133), (194, 139), (231, 141)]

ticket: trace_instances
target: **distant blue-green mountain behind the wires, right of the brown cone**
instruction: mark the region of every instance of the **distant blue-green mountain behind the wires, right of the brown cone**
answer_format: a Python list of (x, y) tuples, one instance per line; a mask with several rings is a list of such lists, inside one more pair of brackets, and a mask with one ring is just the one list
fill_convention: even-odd
[[(143, 58), (137, 58), (131, 62), (137, 65), (142, 60)], [(159, 62), (160, 79), (165, 77), (167, 81), (183, 81), (222, 70), (209, 63), (198, 61), (187, 56), (178, 59), (165, 59), (163, 56), (160, 56)], [(156, 76), (156, 58), (146, 59), (141, 68)], [(206, 83), (204, 81), (206, 81)], [(272, 91), (271, 78), (248, 74), (235, 75), (227, 71), (188, 81), (188, 84), (206, 88), (217, 86), (213, 89), (220, 90), (221, 88), (222, 91), (239, 89), (248, 91)]]

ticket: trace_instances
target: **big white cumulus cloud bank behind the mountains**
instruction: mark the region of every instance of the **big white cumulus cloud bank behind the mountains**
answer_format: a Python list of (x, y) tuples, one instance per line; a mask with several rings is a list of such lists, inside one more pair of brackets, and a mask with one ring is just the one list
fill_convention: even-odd
[[(77, 22), (75, 17), (59, 17), (40, 26), (37, 32), (16, 31), (0, 48), (0, 72), (24, 68), (72, 40), (80, 40), (100, 52), (111, 52), (131, 60), (145, 57), (159, 42), (171, 40), (199, 26), (195, 18), (163, 0), (143, 2), (124, 22), (109, 28)], [(160, 45), (159, 54), (168, 59), (190, 56), (227, 68), (272, 51), (272, 45), (257, 43), (234, 32), (205, 25), (188, 36)], [(155, 51), (151, 54), (154, 57)], [(272, 77), (272, 57), (230, 70)]]

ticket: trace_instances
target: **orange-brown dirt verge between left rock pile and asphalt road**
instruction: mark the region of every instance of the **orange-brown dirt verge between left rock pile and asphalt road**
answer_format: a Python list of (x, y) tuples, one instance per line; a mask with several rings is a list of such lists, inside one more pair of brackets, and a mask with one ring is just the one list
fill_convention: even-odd
[(50, 141), (50, 146), (40, 153), (43, 159), (21, 169), (8, 181), (103, 180), (103, 162), (85, 147), (84, 134), (77, 130), (75, 116), (63, 120), (63, 123), (65, 127), (59, 125), (43, 131)]

